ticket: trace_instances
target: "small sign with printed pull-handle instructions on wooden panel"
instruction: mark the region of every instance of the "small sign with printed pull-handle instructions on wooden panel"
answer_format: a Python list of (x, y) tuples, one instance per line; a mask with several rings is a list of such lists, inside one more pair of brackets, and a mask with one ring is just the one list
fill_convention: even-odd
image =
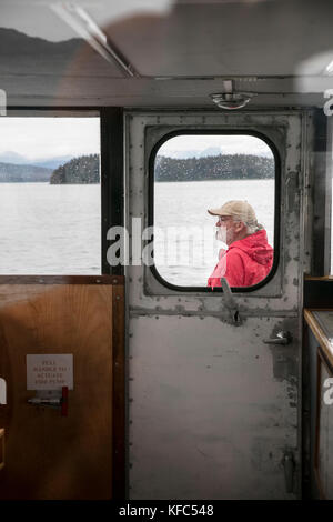
[(73, 390), (73, 354), (27, 355), (27, 390)]

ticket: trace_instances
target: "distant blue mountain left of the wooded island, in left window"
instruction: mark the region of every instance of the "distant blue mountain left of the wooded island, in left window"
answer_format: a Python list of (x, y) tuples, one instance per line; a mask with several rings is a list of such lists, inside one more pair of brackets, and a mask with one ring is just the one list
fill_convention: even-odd
[(52, 172), (41, 167), (0, 163), (0, 183), (48, 182)]

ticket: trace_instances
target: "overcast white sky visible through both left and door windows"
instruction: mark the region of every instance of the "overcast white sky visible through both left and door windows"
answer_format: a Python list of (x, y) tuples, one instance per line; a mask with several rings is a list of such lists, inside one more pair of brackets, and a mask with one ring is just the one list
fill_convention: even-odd
[[(269, 145), (252, 135), (178, 135), (159, 154), (220, 149), (225, 154), (272, 157)], [(16, 152), (29, 160), (100, 152), (99, 118), (0, 118), (0, 154)]]

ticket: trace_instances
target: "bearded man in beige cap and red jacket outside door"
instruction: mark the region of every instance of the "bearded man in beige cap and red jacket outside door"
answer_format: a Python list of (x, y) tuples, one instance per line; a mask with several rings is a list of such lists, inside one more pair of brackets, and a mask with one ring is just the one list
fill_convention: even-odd
[(228, 244), (228, 250), (220, 250), (208, 287), (212, 290), (221, 287), (221, 278), (225, 278), (230, 287), (252, 287), (265, 279), (272, 268), (273, 249), (251, 204), (228, 201), (208, 212), (219, 217), (216, 239)]

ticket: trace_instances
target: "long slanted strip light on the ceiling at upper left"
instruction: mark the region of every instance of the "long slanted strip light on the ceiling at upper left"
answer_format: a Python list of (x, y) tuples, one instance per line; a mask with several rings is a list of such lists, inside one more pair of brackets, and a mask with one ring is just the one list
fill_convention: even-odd
[(140, 77), (133, 66), (123, 57), (117, 47), (110, 42), (107, 34), (92, 20), (90, 14), (74, 2), (58, 2), (51, 9), (80, 34), (99, 54), (110, 63), (117, 64), (129, 77)]

